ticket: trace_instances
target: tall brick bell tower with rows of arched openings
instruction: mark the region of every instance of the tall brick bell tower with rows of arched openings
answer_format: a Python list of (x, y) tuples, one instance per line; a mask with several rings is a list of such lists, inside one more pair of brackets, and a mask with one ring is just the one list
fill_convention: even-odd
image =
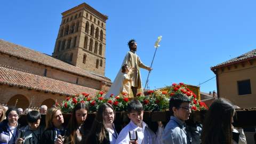
[(52, 56), (105, 76), (107, 15), (86, 3), (61, 14), (62, 21)]

